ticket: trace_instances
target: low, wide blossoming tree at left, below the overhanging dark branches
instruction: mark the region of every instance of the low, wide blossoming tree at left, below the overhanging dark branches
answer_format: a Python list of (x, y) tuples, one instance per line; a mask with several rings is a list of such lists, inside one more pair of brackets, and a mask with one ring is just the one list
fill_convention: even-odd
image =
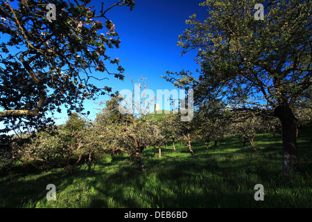
[[(67, 123), (72, 123), (69, 119)], [(78, 119), (76, 120), (78, 122)], [(21, 144), (21, 140), (12, 143), (13, 158), (24, 164), (63, 168), (68, 175), (87, 153), (89, 137), (85, 130), (67, 126), (58, 130), (41, 130), (35, 137)]]

